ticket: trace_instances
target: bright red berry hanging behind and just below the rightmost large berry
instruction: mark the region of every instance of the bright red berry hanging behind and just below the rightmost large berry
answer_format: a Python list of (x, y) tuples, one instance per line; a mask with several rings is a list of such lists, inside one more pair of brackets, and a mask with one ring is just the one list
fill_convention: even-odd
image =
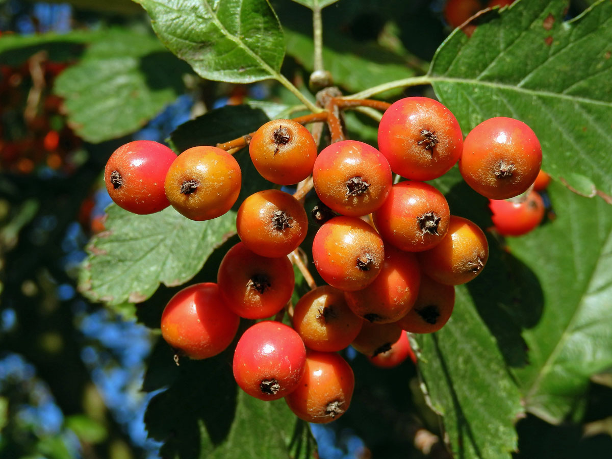
[(532, 191), (524, 199), (489, 200), (493, 226), (502, 236), (521, 236), (534, 230), (544, 218), (544, 201)]

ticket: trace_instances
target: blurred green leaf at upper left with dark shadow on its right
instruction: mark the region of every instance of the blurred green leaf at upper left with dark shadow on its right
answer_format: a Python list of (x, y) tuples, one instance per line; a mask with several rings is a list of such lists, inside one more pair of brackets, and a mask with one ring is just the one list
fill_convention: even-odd
[(101, 142), (140, 129), (173, 102), (184, 91), (185, 72), (155, 37), (116, 29), (64, 70), (54, 89), (65, 98), (76, 133)]

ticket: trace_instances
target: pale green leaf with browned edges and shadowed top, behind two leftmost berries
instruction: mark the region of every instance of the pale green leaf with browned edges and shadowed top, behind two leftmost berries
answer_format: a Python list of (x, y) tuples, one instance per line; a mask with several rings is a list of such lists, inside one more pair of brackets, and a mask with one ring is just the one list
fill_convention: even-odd
[[(172, 133), (178, 151), (214, 145), (256, 130), (268, 121), (263, 111), (228, 106), (188, 121)], [(90, 299), (121, 305), (141, 302), (160, 283), (181, 285), (192, 278), (216, 247), (236, 231), (236, 209), (255, 191), (271, 187), (253, 166), (246, 149), (236, 159), (242, 170), (241, 193), (230, 212), (207, 222), (193, 222), (174, 209), (135, 215), (114, 204), (106, 229), (92, 239), (80, 275), (80, 288)]]

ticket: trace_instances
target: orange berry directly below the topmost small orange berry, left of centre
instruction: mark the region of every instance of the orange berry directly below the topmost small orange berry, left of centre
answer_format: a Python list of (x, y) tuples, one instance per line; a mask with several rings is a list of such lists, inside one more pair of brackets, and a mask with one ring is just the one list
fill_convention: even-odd
[(236, 230), (244, 245), (253, 252), (269, 257), (285, 256), (304, 241), (308, 217), (304, 206), (289, 193), (264, 190), (242, 201)]

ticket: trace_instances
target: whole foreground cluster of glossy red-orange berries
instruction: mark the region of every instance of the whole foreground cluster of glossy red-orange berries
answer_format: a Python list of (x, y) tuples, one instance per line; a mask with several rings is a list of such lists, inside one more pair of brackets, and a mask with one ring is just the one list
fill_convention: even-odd
[[(277, 189), (248, 196), (237, 212), (241, 242), (223, 258), (217, 283), (188, 286), (166, 305), (163, 338), (192, 359), (215, 356), (234, 340), (240, 318), (269, 319), (237, 341), (233, 371), (253, 397), (285, 397), (309, 422), (329, 422), (348, 408), (351, 367), (337, 351), (352, 345), (382, 367), (412, 354), (406, 334), (431, 333), (450, 318), (455, 285), (469, 282), (487, 263), (485, 234), (450, 214), (435, 179), (459, 163), (465, 181), (491, 199), (524, 193), (540, 170), (542, 152), (531, 129), (510, 118), (478, 125), (463, 140), (453, 114), (425, 97), (390, 105), (375, 149), (336, 141), (317, 154), (317, 143), (292, 120), (274, 120), (252, 135), (256, 170), (279, 185), (312, 174), (326, 218), (312, 242), (312, 259), (327, 285), (291, 306), (294, 271), (309, 275), (296, 249), (308, 230), (300, 192)], [(393, 174), (406, 181), (393, 183)], [(227, 212), (241, 187), (236, 160), (219, 147), (193, 147), (176, 157), (161, 144), (120, 147), (106, 165), (108, 192), (138, 214), (171, 204), (193, 220)], [(312, 282), (312, 284), (314, 284)], [(285, 309), (291, 327), (281, 322)], [(414, 359), (414, 354), (412, 354)]]

